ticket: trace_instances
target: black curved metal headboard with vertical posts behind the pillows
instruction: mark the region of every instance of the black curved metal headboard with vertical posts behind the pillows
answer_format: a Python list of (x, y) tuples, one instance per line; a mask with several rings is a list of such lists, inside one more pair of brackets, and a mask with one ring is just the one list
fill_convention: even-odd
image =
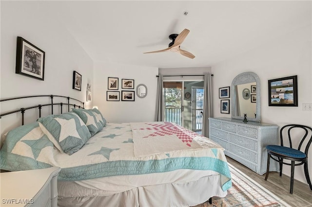
[[(28, 109), (38, 108), (39, 109), (39, 118), (40, 118), (41, 117), (41, 108), (43, 106), (51, 106), (51, 114), (53, 114), (53, 106), (54, 105), (60, 105), (60, 113), (63, 113), (63, 105), (67, 105), (68, 106), (68, 111), (70, 111), (70, 106), (73, 106), (74, 108), (76, 108), (76, 107), (84, 108), (84, 102), (82, 102), (82, 101), (79, 101), (79, 100), (74, 99), (74, 98), (66, 97), (66, 96), (57, 96), (57, 95), (22, 96), (22, 97), (16, 97), (16, 98), (2, 99), (2, 100), (0, 100), (0, 102), (12, 101), (12, 100), (17, 100), (17, 99), (34, 98), (34, 97), (50, 97), (51, 103), (50, 104), (38, 104), (38, 105), (29, 106), (29, 107), (23, 107), (23, 108), (20, 108), (20, 109), (17, 109), (17, 110), (13, 110), (13, 111), (9, 111), (9, 112), (6, 112), (6, 113), (2, 113), (2, 114), (0, 114), (0, 119), (3, 116), (9, 115), (9, 114), (14, 114), (14, 113), (17, 113), (17, 112), (21, 112), (21, 114), (22, 114), (21, 115), (21, 125), (24, 125), (24, 113)], [(60, 103), (53, 103), (53, 98), (54, 97), (66, 98), (67, 99), (67, 103), (62, 103), (62, 102), (60, 102)], [(79, 103), (79, 104), (71, 104), (71, 101)]]

